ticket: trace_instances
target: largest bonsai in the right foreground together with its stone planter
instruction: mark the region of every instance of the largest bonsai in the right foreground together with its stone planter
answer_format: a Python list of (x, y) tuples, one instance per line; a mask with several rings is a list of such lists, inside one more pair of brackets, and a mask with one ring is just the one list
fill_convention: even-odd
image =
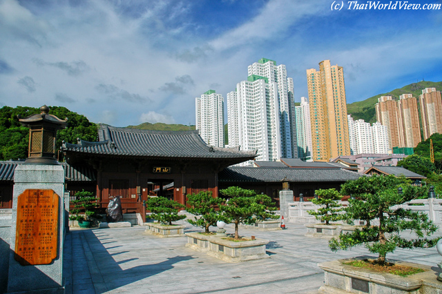
[[(428, 219), (428, 216), (400, 206), (425, 195), (426, 192), (426, 188), (411, 186), (405, 179), (392, 175), (361, 177), (343, 184), (341, 193), (355, 196), (355, 199), (349, 199), (349, 206), (345, 208), (347, 222), (352, 224), (355, 219), (363, 219), (367, 224), (361, 228), (355, 228), (352, 233), (341, 233), (339, 238), (331, 239), (329, 247), (332, 251), (338, 251), (364, 245), (370, 253), (378, 254), (378, 257), (374, 259), (358, 257), (356, 260), (338, 260), (319, 264), (320, 268), (326, 272), (325, 286), (320, 288), (320, 292), (330, 293), (338, 289), (347, 293), (349, 288), (351, 292), (348, 293), (369, 292), (368, 289), (385, 293), (385, 287), (391, 288), (388, 291), (396, 291), (395, 293), (417, 291), (423, 284), (421, 277), (427, 275), (427, 273), (419, 272), (428, 271), (430, 267), (403, 262), (387, 262), (386, 255), (394, 252), (396, 248), (423, 248), (436, 244), (439, 238), (431, 239), (429, 236), (437, 230), (437, 227)], [(404, 230), (412, 231), (414, 237), (405, 238), (399, 235)], [(398, 267), (398, 270), (405, 266), (412, 267), (412, 269), (407, 269), (410, 275), (400, 277), (392, 274), (401, 273), (400, 271), (382, 273), (356, 266), (380, 268), (383, 271), (390, 271), (394, 266)], [(345, 281), (350, 282), (348, 284)]]

